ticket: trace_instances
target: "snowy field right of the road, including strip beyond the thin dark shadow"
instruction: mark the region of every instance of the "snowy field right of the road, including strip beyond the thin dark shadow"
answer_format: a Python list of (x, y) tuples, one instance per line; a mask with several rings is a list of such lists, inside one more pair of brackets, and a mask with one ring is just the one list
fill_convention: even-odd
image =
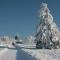
[[(35, 45), (18, 45), (22, 51), (36, 58), (36, 60), (60, 60), (60, 49), (36, 49)], [(23, 48), (22, 48), (23, 47)]]

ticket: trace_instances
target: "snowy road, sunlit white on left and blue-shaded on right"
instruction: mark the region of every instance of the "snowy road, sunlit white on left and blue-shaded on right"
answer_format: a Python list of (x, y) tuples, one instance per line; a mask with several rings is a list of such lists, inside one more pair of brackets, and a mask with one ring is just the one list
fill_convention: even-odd
[(0, 60), (36, 60), (21, 49), (8, 49), (0, 56)]

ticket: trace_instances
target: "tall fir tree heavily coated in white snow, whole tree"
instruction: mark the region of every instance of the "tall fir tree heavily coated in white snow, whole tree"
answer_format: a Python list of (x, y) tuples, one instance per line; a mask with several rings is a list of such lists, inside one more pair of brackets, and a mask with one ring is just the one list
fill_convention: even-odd
[(37, 48), (59, 48), (60, 32), (46, 3), (41, 4), (36, 34)]

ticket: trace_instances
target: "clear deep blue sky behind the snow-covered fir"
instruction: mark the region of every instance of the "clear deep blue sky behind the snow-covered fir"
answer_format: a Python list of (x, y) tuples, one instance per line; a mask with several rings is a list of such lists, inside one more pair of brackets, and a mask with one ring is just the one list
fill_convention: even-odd
[(0, 0), (0, 35), (34, 35), (42, 2), (48, 4), (60, 27), (60, 0)]

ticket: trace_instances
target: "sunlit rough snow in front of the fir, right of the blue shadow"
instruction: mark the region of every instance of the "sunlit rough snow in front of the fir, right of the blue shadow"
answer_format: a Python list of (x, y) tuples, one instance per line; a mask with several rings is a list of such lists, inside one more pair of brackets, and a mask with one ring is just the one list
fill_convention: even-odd
[(22, 50), (35, 57), (37, 60), (60, 60), (60, 49), (58, 50), (22, 49)]

